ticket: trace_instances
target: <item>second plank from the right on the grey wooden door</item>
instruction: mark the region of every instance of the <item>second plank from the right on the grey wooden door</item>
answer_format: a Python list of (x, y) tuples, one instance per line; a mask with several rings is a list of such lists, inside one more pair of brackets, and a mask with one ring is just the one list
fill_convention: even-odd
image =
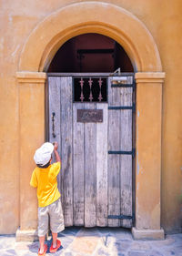
[[(120, 88), (111, 88), (108, 78), (108, 106), (120, 105)], [(108, 150), (120, 150), (120, 111), (108, 110)], [(120, 215), (119, 155), (108, 155), (108, 215)], [(118, 227), (119, 220), (108, 220), (109, 227)]]

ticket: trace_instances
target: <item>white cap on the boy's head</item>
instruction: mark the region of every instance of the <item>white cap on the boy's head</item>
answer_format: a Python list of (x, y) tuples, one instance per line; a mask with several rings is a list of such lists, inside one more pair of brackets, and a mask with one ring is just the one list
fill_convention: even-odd
[(45, 142), (40, 148), (36, 149), (34, 160), (35, 164), (44, 166), (51, 159), (51, 154), (53, 153), (54, 146), (50, 142)]

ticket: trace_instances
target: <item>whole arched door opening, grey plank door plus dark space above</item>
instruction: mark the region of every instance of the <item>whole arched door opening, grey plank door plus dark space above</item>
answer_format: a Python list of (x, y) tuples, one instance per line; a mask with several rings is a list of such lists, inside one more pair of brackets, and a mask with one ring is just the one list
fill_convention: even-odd
[(66, 226), (131, 228), (135, 82), (129, 57), (115, 40), (84, 34), (60, 47), (47, 75), (47, 139), (58, 140), (64, 159), (58, 186)]

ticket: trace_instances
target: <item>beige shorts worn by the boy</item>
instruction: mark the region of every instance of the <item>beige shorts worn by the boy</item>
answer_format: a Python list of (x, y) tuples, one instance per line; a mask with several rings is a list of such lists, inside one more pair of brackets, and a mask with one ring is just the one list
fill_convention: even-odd
[(48, 232), (48, 218), (50, 229), (54, 233), (65, 230), (61, 200), (58, 199), (45, 207), (38, 207), (38, 236), (42, 237)]

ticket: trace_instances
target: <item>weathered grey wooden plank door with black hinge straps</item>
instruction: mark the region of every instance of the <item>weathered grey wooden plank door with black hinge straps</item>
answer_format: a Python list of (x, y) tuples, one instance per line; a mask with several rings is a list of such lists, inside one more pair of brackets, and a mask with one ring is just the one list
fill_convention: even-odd
[[(73, 79), (48, 77), (49, 140), (60, 145), (66, 226), (131, 227), (133, 77), (107, 77), (102, 103), (75, 102)], [(103, 119), (78, 121), (79, 109), (101, 109)]]

